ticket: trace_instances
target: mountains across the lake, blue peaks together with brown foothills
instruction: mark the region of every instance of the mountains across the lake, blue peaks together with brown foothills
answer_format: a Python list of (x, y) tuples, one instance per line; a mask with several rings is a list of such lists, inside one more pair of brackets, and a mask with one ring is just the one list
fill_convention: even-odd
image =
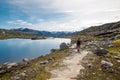
[(0, 39), (6, 38), (34, 38), (34, 37), (63, 37), (73, 35), (74, 32), (49, 32), (28, 28), (0, 29)]

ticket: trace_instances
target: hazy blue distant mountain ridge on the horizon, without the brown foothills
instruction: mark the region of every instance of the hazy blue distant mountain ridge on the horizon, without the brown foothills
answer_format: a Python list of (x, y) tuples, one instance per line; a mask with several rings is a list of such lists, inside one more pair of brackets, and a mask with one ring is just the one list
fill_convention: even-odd
[(24, 34), (29, 34), (29, 35), (35, 35), (35, 36), (46, 36), (46, 37), (62, 37), (62, 36), (69, 36), (73, 35), (75, 32), (50, 32), (50, 31), (38, 31), (38, 30), (33, 30), (29, 28), (18, 28), (18, 29), (0, 29), (2, 32), (7, 32), (7, 33), (24, 33)]

